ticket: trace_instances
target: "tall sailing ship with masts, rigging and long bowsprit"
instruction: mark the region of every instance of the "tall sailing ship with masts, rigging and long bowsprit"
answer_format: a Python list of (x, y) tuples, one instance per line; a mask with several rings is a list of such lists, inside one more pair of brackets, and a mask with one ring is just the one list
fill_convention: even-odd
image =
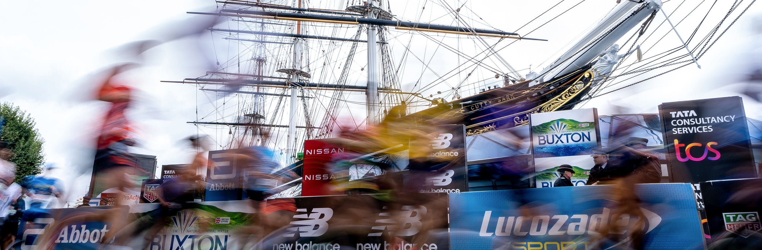
[[(500, 30), (467, 2), (221, 0), (216, 11), (188, 12), (221, 21), (208, 29), (216, 69), (166, 82), (199, 89), (199, 116), (189, 123), (218, 149), (267, 146), (293, 166), (306, 139), (363, 130), (390, 112), (462, 123), (473, 136), (699, 66), (748, 9), (742, 1), (610, 0), (597, 3), (609, 11), (591, 13), (577, 9), (584, 1), (567, 2), (537, 18), (588, 27), (574, 39)], [(600, 18), (579, 24), (579, 14)], [(543, 68), (514, 67), (500, 53), (553, 39), (571, 42), (548, 48), (559, 53)]]

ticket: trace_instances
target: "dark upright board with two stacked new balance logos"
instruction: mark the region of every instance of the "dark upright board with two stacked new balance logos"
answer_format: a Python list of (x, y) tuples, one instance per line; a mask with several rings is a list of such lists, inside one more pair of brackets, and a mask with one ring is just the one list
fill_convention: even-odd
[[(411, 181), (422, 182), (421, 193), (461, 193), (468, 191), (469, 169), (466, 165), (466, 127), (434, 126), (431, 149), (424, 161), (411, 159)], [(411, 148), (411, 151), (415, 148)], [(411, 152), (411, 155), (422, 155)]]

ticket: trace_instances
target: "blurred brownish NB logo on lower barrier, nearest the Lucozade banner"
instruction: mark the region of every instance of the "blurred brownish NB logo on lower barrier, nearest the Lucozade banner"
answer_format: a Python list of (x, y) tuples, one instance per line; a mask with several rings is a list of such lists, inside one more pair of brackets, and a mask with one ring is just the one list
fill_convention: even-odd
[[(386, 207), (383, 207), (386, 209)], [(373, 226), (373, 230), (389, 230), (395, 227), (395, 224), (401, 223), (399, 231), (395, 236), (415, 236), (421, 231), (423, 223), (421, 223), (421, 216), (426, 215), (426, 207), (423, 206), (402, 206), (402, 210), (399, 211), (399, 220), (392, 218), (392, 215), (388, 212), (379, 213), (379, 216), (385, 216), (386, 219), (376, 220), (376, 223), (385, 223), (389, 225)], [(383, 232), (371, 232), (368, 236), (381, 236)]]

